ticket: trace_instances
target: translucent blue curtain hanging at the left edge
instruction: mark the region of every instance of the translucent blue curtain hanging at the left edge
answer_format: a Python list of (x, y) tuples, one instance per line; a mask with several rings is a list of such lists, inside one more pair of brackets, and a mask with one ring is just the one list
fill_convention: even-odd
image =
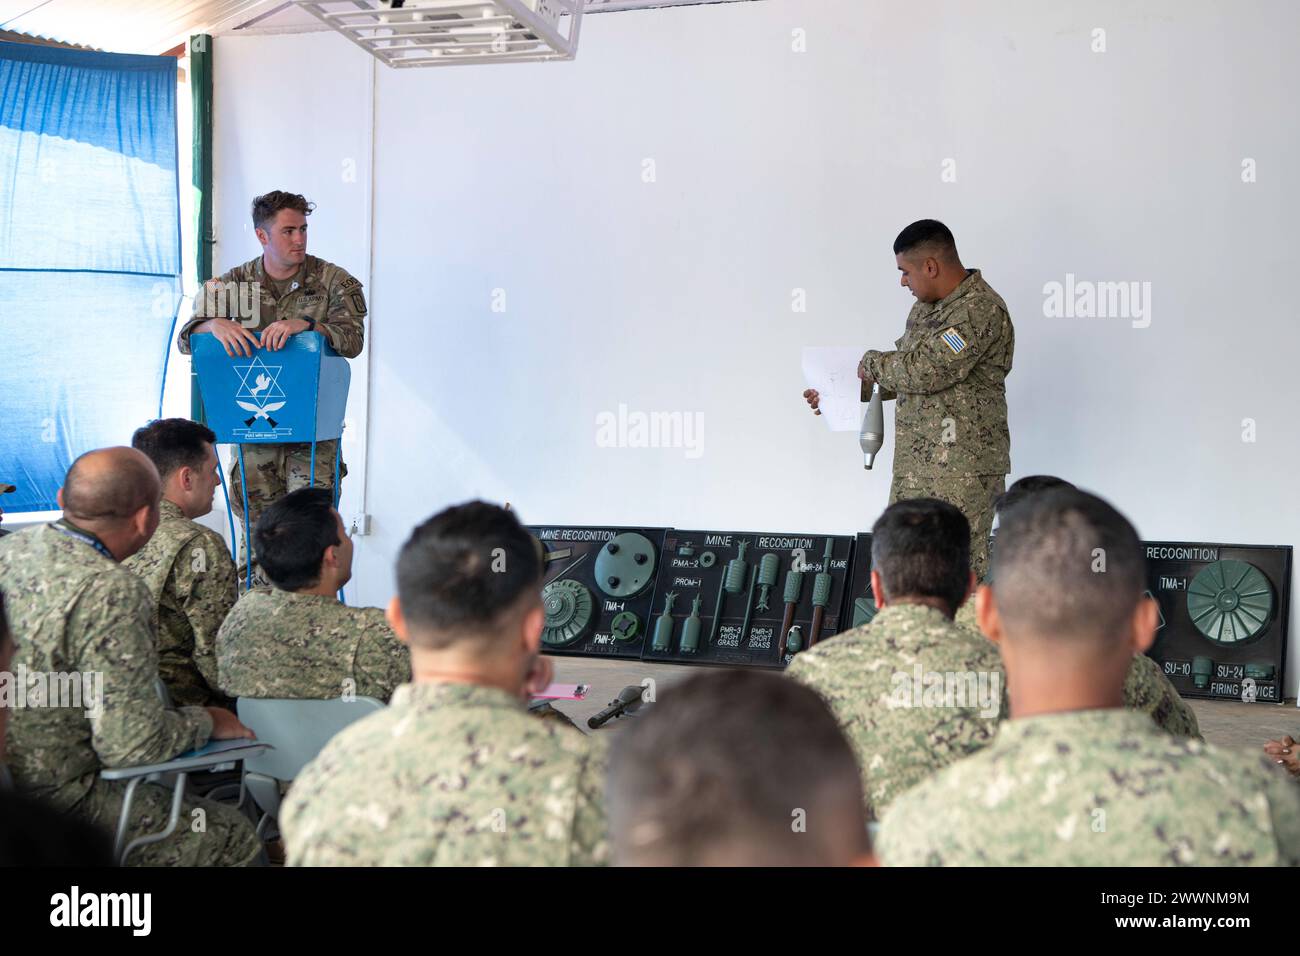
[(160, 414), (181, 302), (177, 64), (0, 43), (0, 483), (57, 509), (77, 455)]

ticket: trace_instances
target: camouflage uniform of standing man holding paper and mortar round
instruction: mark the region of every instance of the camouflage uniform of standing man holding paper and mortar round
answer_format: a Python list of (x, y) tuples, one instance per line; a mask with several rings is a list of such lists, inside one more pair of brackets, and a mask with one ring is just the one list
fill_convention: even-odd
[(889, 502), (940, 498), (971, 523), (971, 566), (988, 567), (993, 499), (1006, 490), (1011, 434), (1006, 376), (1015, 329), (979, 269), (940, 302), (916, 302), (897, 351), (868, 351), (867, 372), (897, 395)]

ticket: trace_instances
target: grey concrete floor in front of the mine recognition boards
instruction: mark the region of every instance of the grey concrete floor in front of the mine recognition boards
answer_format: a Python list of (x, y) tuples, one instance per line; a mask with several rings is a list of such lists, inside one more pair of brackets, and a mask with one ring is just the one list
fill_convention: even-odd
[[(586, 730), (586, 718), (599, 711), (619, 691), (628, 684), (642, 680), (654, 682), (655, 691), (663, 691), (679, 684), (699, 671), (716, 670), (675, 663), (642, 663), (641, 661), (615, 661), (590, 657), (559, 657), (555, 661), (555, 680), (563, 683), (590, 684), (590, 691), (582, 701), (556, 701), (555, 708), (563, 710)], [(1300, 737), (1300, 711), (1295, 700), (1283, 704), (1244, 704), (1240, 701), (1188, 700), (1205, 739), (1219, 747), (1242, 750), (1260, 750), (1264, 741), (1290, 734)], [(607, 723), (601, 731), (618, 732), (634, 717), (619, 718)]]

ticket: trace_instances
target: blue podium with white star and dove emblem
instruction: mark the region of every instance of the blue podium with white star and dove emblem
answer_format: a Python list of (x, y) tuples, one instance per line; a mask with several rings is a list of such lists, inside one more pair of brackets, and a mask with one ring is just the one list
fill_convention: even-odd
[[(254, 332), (260, 339), (260, 334)], [(244, 445), (311, 442), (311, 483), (316, 483), (316, 442), (342, 438), (343, 412), (352, 372), (318, 332), (290, 336), (280, 351), (256, 349), (251, 356), (228, 355), (216, 336), (190, 337), (194, 369), (208, 428), (222, 445), (239, 449), (239, 483), (244, 493), (244, 554), (248, 585), (252, 561), (248, 542), (248, 483)], [(334, 506), (338, 506), (338, 460), (334, 454)], [(222, 479), (222, 484), (225, 480)], [(226, 496), (229, 509), (230, 497)], [(234, 516), (230, 518), (234, 535)]]

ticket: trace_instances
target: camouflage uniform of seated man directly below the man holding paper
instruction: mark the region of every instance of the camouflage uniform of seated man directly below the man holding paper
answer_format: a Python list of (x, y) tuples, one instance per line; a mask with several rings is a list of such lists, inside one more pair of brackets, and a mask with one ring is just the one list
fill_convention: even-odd
[[(916, 700), (916, 667), (923, 675), (984, 675), (992, 713), (978, 696), (961, 706)], [(867, 819), (878, 819), (894, 797), (940, 767), (985, 747), (1005, 708), (997, 648), (924, 605), (887, 605), (870, 624), (797, 654), (785, 672), (829, 704), (853, 744)]]

